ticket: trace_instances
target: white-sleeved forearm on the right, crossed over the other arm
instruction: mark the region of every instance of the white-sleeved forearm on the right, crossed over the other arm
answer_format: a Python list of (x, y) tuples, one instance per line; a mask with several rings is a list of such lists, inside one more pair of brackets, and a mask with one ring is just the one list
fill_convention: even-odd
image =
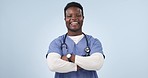
[(86, 70), (99, 70), (104, 63), (104, 57), (101, 53), (94, 53), (87, 57), (76, 55), (75, 63)]

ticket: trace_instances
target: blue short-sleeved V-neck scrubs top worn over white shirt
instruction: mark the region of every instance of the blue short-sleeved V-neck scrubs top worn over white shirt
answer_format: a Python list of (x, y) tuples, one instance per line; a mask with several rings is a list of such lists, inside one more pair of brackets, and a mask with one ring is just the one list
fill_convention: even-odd
[[(65, 34), (53, 40), (49, 45), (48, 53), (56, 52), (61, 56), (66, 55), (67, 53), (80, 55), (80, 56), (84, 56), (86, 54), (84, 50), (87, 47), (85, 36), (77, 44), (75, 44), (74, 41), (67, 36), (65, 40), (67, 49), (65, 47), (62, 47), (64, 37), (65, 37)], [(102, 45), (100, 41), (96, 38), (93, 38), (90, 35), (86, 35), (86, 37), (88, 40), (88, 45), (91, 50), (90, 55), (95, 52), (100, 52), (103, 54)], [(78, 71), (73, 71), (69, 73), (55, 72), (55, 78), (98, 78), (98, 76), (96, 71), (94, 70), (90, 71), (90, 70), (80, 69)]]

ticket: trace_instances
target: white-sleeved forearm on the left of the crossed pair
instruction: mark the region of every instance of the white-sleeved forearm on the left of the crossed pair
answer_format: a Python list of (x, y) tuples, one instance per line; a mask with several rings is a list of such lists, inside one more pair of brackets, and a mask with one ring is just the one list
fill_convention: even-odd
[(47, 56), (48, 67), (51, 71), (67, 73), (77, 71), (77, 65), (61, 59), (58, 53), (49, 53)]

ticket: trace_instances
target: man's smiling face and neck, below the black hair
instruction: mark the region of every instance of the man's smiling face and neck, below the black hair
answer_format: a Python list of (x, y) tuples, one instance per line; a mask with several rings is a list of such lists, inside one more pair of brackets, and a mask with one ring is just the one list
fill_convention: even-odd
[(82, 33), (84, 17), (82, 11), (78, 7), (70, 7), (66, 10), (65, 22), (68, 33)]

